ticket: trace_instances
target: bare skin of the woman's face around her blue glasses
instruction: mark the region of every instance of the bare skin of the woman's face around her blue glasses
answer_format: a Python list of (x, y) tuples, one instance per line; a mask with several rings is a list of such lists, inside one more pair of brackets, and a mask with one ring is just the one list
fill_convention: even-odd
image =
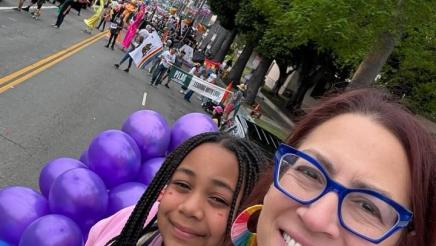
[[(375, 187), (409, 207), (406, 153), (397, 138), (370, 117), (337, 116), (314, 129), (299, 150), (331, 163), (330, 177), (347, 188)], [(271, 186), (258, 222), (258, 245), (372, 245), (341, 227), (337, 210), (335, 192), (303, 206)], [(292, 241), (288, 236), (299, 244), (286, 243)], [(399, 237), (397, 232), (379, 245), (396, 245)]]

